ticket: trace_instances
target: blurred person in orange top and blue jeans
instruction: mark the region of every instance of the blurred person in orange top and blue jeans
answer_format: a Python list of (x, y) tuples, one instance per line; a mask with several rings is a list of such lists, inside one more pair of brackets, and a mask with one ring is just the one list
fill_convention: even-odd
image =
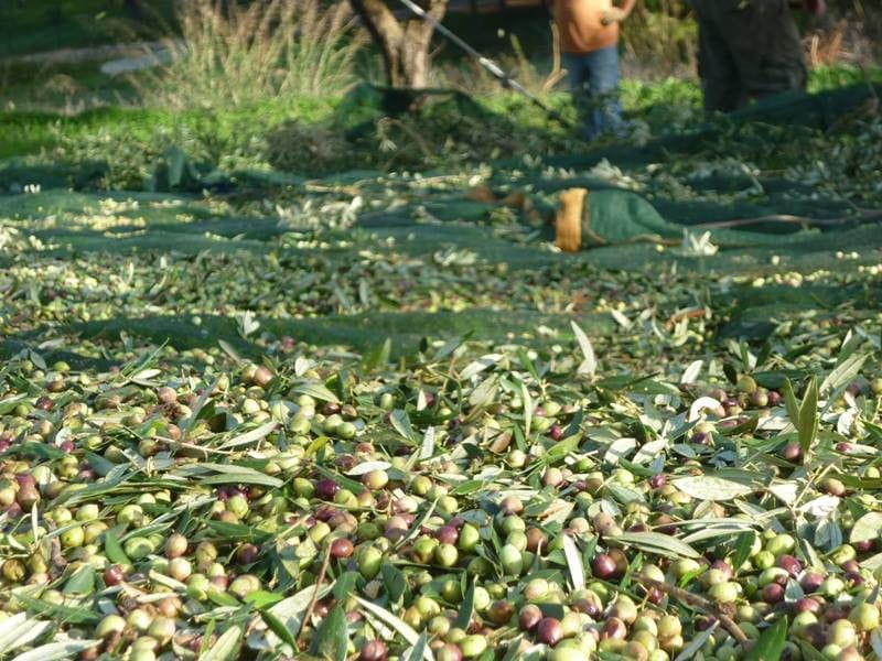
[(619, 23), (636, 0), (553, 0), (563, 63), (585, 140), (622, 134), (626, 124), (619, 101)]

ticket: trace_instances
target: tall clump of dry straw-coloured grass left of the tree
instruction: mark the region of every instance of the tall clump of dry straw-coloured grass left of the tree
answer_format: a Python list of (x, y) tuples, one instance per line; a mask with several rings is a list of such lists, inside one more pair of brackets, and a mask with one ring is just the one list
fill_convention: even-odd
[(173, 62), (138, 83), (147, 105), (247, 107), (267, 99), (342, 94), (364, 43), (348, 3), (269, 0), (239, 7), (190, 0), (179, 11)]

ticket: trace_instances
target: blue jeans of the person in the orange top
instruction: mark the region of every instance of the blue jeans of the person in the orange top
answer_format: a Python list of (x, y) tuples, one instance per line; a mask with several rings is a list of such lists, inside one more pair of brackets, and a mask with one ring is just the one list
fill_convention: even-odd
[(591, 53), (564, 53), (570, 88), (585, 140), (625, 130), (619, 102), (619, 47)]

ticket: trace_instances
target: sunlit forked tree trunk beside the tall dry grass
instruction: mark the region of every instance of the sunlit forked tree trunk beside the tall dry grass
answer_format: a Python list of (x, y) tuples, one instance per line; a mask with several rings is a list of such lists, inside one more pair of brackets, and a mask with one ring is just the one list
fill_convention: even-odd
[[(429, 46), (434, 29), (412, 17), (399, 21), (384, 0), (349, 0), (383, 54), (390, 87), (419, 89), (429, 79)], [(448, 0), (422, 0), (420, 6), (435, 21), (447, 10)], [(404, 6), (402, 6), (404, 7)]]

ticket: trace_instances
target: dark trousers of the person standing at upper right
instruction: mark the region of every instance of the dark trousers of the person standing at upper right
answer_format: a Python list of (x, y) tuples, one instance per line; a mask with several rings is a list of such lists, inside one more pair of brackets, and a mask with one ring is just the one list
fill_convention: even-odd
[(807, 69), (787, 0), (692, 0), (698, 17), (698, 73), (708, 111), (729, 112), (753, 99), (804, 89)]

